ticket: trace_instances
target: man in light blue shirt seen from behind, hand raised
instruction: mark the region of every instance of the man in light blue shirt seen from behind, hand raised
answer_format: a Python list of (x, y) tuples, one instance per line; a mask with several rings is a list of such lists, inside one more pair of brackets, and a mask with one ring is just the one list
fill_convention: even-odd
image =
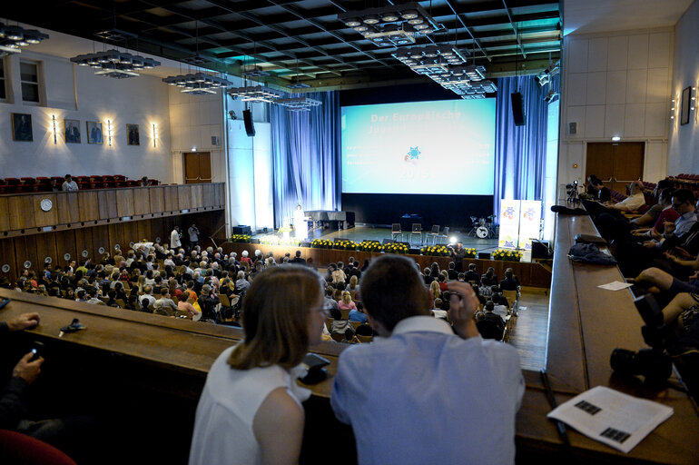
[(340, 353), (330, 397), (335, 415), (354, 430), (359, 463), (514, 463), (525, 389), (519, 357), (507, 344), (478, 337), (471, 286), (449, 282), (453, 331), (429, 315), (428, 293), (409, 258), (374, 260), (361, 287), (381, 339)]

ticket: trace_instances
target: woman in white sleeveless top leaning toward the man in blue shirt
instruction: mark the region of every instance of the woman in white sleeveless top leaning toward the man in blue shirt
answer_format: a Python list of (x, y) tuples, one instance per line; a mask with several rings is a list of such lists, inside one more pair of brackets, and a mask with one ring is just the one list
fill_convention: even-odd
[(307, 267), (261, 272), (242, 308), (245, 341), (213, 362), (197, 407), (190, 465), (299, 462), (310, 391), (294, 370), (320, 342), (327, 317), (318, 274)]

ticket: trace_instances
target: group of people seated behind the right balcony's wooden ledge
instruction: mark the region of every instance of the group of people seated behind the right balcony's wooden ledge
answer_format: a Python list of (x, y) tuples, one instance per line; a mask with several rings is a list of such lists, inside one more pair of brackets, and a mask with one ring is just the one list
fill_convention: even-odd
[[(593, 180), (593, 185), (598, 185)], [(663, 179), (655, 185), (655, 203), (636, 213), (643, 183), (629, 185), (622, 202), (584, 201), (599, 233), (628, 282), (645, 288), (663, 312), (662, 331), (674, 354), (699, 349), (699, 222), (697, 194)], [(630, 199), (630, 200), (629, 200)]]

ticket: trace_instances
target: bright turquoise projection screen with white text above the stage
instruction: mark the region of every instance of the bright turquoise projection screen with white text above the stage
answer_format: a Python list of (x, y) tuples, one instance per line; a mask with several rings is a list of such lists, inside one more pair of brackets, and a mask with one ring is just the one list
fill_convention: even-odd
[(342, 107), (342, 192), (492, 195), (495, 99)]

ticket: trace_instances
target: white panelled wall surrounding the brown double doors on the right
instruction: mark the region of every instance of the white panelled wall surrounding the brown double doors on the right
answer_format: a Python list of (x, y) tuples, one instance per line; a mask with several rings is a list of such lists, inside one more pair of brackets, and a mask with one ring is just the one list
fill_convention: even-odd
[(646, 143), (645, 180), (665, 177), (673, 39), (670, 28), (564, 37), (559, 186), (583, 181), (587, 142), (615, 135)]

